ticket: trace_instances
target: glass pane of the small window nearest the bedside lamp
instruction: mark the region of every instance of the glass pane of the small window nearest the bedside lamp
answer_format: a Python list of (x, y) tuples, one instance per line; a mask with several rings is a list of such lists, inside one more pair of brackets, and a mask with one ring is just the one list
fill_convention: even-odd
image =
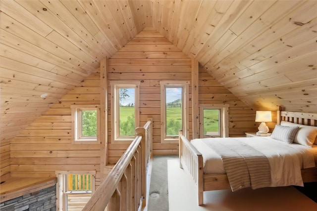
[(220, 109), (204, 109), (204, 135), (220, 135)]

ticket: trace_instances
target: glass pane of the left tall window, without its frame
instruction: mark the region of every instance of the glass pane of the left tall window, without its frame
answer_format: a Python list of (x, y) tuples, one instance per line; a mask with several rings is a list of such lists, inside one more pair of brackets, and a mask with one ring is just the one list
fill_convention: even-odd
[(135, 134), (135, 88), (119, 88), (119, 136)]

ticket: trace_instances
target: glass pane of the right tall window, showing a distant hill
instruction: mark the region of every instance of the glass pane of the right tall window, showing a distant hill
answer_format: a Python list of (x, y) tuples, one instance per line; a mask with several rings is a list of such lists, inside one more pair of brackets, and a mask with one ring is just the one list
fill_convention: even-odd
[(183, 128), (182, 115), (182, 87), (166, 87), (166, 136), (178, 136)]

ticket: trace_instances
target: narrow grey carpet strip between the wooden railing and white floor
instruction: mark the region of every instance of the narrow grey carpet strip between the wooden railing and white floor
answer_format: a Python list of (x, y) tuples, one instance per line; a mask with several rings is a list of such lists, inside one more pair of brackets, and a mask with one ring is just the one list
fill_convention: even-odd
[(168, 211), (167, 160), (177, 155), (153, 156), (148, 211)]

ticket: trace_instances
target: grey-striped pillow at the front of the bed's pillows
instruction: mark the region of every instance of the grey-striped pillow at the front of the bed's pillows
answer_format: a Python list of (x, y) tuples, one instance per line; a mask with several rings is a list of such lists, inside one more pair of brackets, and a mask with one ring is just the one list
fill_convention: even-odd
[(299, 127), (288, 127), (276, 125), (271, 134), (271, 138), (291, 144)]

